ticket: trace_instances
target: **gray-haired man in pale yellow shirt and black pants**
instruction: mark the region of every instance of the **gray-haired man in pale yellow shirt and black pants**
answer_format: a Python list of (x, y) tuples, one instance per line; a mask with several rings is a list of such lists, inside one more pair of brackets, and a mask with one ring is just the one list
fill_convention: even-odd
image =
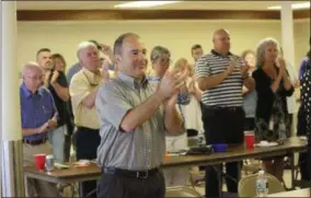
[[(95, 97), (103, 81), (99, 49), (95, 44), (82, 42), (77, 51), (82, 69), (72, 77), (69, 92), (74, 116), (77, 160), (96, 159), (100, 144), (100, 123), (95, 109)], [(96, 188), (96, 182), (82, 183), (85, 197)]]

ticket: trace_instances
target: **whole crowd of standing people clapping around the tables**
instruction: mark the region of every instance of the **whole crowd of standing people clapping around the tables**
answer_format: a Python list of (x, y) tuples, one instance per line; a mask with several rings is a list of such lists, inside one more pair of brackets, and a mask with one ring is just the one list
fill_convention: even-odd
[[(301, 178), (310, 180), (310, 51), (298, 75), (274, 38), (238, 56), (230, 50), (230, 33), (220, 28), (212, 45), (207, 54), (200, 45), (191, 48), (194, 65), (181, 57), (172, 66), (170, 49), (156, 46), (149, 59), (140, 36), (125, 33), (113, 47), (80, 43), (78, 62), (67, 74), (60, 54), (39, 49), (36, 62), (23, 67), (20, 86), (24, 165), (33, 164), (38, 153), (68, 162), (73, 148), (77, 160), (96, 160), (102, 168), (99, 183), (80, 184), (81, 197), (97, 189), (91, 196), (161, 198), (166, 186), (183, 185), (189, 172), (163, 173), (165, 152), (187, 149), (189, 139), (204, 136), (206, 144), (239, 144), (244, 131), (252, 130), (256, 142), (283, 142), (297, 130), (308, 138), (300, 171)], [(293, 93), (299, 88), (298, 108)], [(263, 168), (283, 182), (285, 156), (261, 160)], [(237, 180), (240, 167), (241, 162), (226, 163), (227, 174)], [(216, 168), (192, 167), (201, 168), (206, 197), (218, 197)], [(235, 182), (226, 182), (228, 191), (238, 193)], [(53, 184), (27, 183), (31, 197), (58, 196)]]

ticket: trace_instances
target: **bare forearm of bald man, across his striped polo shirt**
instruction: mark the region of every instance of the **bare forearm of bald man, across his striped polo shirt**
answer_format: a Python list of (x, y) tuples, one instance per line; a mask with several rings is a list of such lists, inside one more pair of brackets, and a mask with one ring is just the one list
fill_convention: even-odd
[(209, 90), (209, 89), (215, 88), (218, 84), (220, 84), (227, 77), (228, 77), (228, 72), (224, 71), (222, 73), (219, 73), (219, 74), (216, 74), (216, 75), (212, 75), (212, 77), (198, 78), (198, 80), (197, 80), (198, 88), (201, 91)]

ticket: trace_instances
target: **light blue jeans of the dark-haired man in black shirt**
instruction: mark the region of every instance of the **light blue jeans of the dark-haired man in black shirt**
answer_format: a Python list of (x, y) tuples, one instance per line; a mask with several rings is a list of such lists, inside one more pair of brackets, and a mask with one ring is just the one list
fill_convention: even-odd
[(54, 161), (65, 162), (65, 132), (66, 125), (48, 131), (48, 141), (53, 147)]

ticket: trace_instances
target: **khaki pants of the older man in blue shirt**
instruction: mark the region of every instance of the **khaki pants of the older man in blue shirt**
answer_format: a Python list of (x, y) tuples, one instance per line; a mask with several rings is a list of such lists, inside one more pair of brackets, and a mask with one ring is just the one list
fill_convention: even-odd
[[(24, 166), (35, 164), (35, 154), (53, 154), (53, 149), (48, 142), (38, 145), (23, 143)], [(26, 183), (27, 197), (58, 197), (55, 184), (32, 178), (27, 178)]]

